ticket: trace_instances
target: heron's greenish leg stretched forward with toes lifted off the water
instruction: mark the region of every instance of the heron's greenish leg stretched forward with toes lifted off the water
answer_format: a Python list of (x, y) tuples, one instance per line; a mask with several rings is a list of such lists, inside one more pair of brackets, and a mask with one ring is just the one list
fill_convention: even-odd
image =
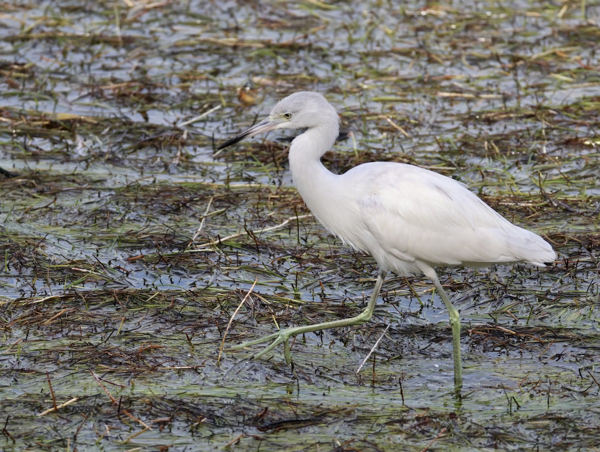
[[(367, 322), (373, 316), (373, 309), (375, 308), (375, 304), (377, 302), (377, 297), (379, 297), (379, 292), (381, 291), (381, 286), (383, 285), (383, 280), (385, 279), (386, 272), (379, 273), (377, 275), (377, 281), (375, 282), (375, 287), (373, 288), (373, 294), (367, 304), (367, 308), (361, 312), (358, 316), (352, 317), (349, 319), (340, 319), (334, 320), (331, 322), (323, 322), (322, 324), (316, 325), (307, 325), (305, 327), (290, 327), (285, 330), (279, 330), (277, 333), (269, 334), (269, 336), (262, 337), (260, 339), (251, 340), (250, 342), (244, 342), (240, 345), (235, 345), (231, 347), (232, 350), (238, 350), (245, 347), (250, 347), (253, 345), (257, 345), (263, 342), (269, 342), (272, 340), (271, 344), (265, 347), (262, 351), (254, 355), (254, 358), (260, 358), (265, 353), (270, 352), (274, 349), (278, 344), (283, 342), (283, 354), (286, 358), (287, 364), (292, 364), (292, 352), (290, 351), (290, 345), (288, 340), (292, 336), (296, 336), (298, 334), (310, 333), (311, 331), (319, 331), (319, 330), (327, 330), (328, 328), (340, 328), (340, 327), (349, 327), (351, 325), (359, 325), (364, 322)], [(460, 328), (460, 325), (459, 325)]]

